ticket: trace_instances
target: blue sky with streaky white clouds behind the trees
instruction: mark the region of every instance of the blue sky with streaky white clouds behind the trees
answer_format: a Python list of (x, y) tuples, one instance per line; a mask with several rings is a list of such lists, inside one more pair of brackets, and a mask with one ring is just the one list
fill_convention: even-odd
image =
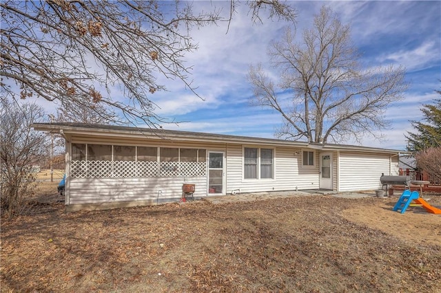
[[(391, 129), (382, 141), (366, 137), (362, 145), (404, 149), (404, 134), (412, 131), (409, 120), (420, 120), (421, 105), (430, 103), (441, 79), (441, 2), (440, 1), (291, 1), (298, 10), (298, 35), (310, 28), (314, 14), (323, 4), (336, 12), (343, 24), (351, 25), (351, 37), (366, 67), (403, 65), (410, 83), (404, 100), (391, 105), (387, 117)], [(194, 9), (212, 9), (229, 1), (194, 1)], [(250, 65), (268, 65), (267, 48), (278, 40), (285, 22), (263, 19), (253, 24), (245, 4), (230, 24), (207, 26), (192, 31), (198, 50), (187, 54), (193, 85), (201, 100), (185, 89), (182, 82), (159, 80), (167, 91), (156, 92), (152, 100), (156, 113), (180, 124), (163, 124), (164, 129), (200, 131), (231, 135), (274, 138), (281, 118), (270, 109), (249, 105), (252, 86), (247, 82)], [(355, 141), (346, 142), (356, 144)]]

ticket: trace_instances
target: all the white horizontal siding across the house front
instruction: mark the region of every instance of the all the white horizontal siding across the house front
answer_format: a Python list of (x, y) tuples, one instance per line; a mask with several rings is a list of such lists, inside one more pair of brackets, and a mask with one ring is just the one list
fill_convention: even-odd
[[(123, 137), (72, 137), (74, 143), (126, 144), (136, 146), (171, 146), (225, 152), (225, 193), (240, 189), (240, 193), (264, 191), (299, 191), (319, 188), (319, 153), (315, 151), (315, 166), (302, 166), (302, 149), (279, 146), (252, 146), (274, 149), (274, 178), (245, 180), (243, 178), (243, 144), (210, 144), (176, 140)], [(67, 153), (69, 149), (66, 149)], [(398, 175), (398, 156), (378, 153), (334, 151), (333, 187), (338, 191), (380, 188), (380, 175)], [(125, 177), (71, 178), (67, 160), (66, 204), (101, 204), (105, 202), (177, 201), (183, 184), (196, 184), (195, 197), (207, 196), (207, 177)]]

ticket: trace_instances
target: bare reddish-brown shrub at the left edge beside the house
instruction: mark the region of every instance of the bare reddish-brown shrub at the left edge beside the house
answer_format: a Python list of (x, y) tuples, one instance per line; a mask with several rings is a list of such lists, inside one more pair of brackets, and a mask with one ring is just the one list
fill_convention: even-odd
[(32, 122), (43, 120), (43, 109), (35, 104), (18, 105), (1, 99), (0, 165), (1, 211), (18, 215), (26, 196), (32, 193), (33, 167), (48, 154), (45, 133), (30, 129)]

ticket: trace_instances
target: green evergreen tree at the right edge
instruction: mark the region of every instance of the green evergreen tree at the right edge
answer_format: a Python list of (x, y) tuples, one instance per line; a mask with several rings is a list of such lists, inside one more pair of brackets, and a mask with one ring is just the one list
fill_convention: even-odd
[[(441, 91), (437, 91), (441, 94)], [(416, 133), (408, 132), (407, 150), (412, 152), (424, 151), (429, 148), (441, 147), (441, 99), (436, 99), (433, 104), (422, 105), (423, 121), (412, 120)]]

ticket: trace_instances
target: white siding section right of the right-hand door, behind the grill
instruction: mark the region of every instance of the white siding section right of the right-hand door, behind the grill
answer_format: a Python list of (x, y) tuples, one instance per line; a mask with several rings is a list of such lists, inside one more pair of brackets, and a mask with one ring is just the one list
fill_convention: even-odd
[(340, 151), (339, 191), (362, 191), (381, 188), (381, 174), (389, 175), (389, 154), (349, 153)]

